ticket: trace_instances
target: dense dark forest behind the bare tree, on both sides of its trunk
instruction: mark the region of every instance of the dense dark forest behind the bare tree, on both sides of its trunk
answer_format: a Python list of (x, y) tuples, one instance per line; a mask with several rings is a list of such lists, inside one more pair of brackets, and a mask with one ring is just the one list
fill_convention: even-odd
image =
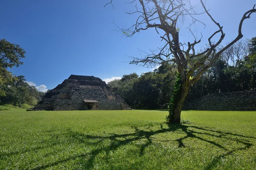
[[(108, 83), (132, 108), (167, 108), (176, 81), (177, 69), (163, 62), (152, 72), (124, 75)], [(186, 102), (214, 93), (256, 88), (256, 37), (240, 40), (228, 48), (215, 65), (192, 85)]]

